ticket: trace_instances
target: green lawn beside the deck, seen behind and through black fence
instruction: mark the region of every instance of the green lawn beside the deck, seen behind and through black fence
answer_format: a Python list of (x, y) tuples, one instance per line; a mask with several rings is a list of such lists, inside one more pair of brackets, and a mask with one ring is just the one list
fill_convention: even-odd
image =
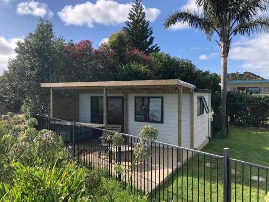
[[(269, 130), (247, 130), (242, 128), (231, 127), (231, 137), (227, 139), (215, 139), (210, 142), (202, 151), (218, 154), (223, 156), (223, 148), (230, 149), (230, 157), (249, 161), (252, 163), (260, 164), (263, 166), (269, 166)], [(205, 157), (205, 163), (210, 163), (210, 158)], [(193, 180), (193, 201), (223, 201), (223, 162), (222, 160), (217, 160), (211, 158), (212, 168), (210, 177), (210, 168), (205, 166), (205, 181), (204, 181), (204, 156), (199, 155), (199, 169), (198, 169), (198, 155), (194, 155), (194, 158), (189, 160), (188, 169), (187, 165), (183, 166), (183, 176), (181, 176), (181, 168), (178, 172), (173, 174), (172, 179), (169, 180), (169, 184), (162, 186), (160, 190), (156, 190), (153, 193), (153, 197), (158, 200), (160, 195), (161, 200), (167, 200), (167, 189), (169, 190), (169, 195), (172, 194), (174, 201), (192, 201), (192, 180)], [(217, 165), (218, 168), (217, 169)], [(193, 170), (192, 170), (193, 167)], [(232, 201), (242, 201), (242, 165), (238, 164), (237, 175), (236, 175), (236, 186), (235, 186), (235, 164), (231, 163), (232, 169)], [(188, 177), (187, 177), (188, 170)], [(199, 172), (198, 172), (199, 170)], [(217, 171), (218, 170), (218, 171)], [(257, 176), (257, 168), (252, 167), (251, 176)], [(217, 178), (218, 172), (218, 178)], [(192, 175), (193, 173), (193, 175)], [(199, 183), (198, 183), (198, 173), (199, 173)], [(260, 177), (266, 179), (266, 172), (262, 169), (259, 170)], [(183, 180), (182, 180), (183, 178)], [(269, 177), (268, 177), (269, 178)], [(211, 179), (211, 180), (210, 180)], [(257, 180), (250, 179), (250, 167), (243, 167), (243, 201), (250, 201), (250, 182), (251, 182), (251, 201), (257, 201)], [(260, 178), (259, 183), (259, 201), (264, 200), (265, 196), (265, 181)], [(188, 183), (187, 183), (188, 180)], [(218, 180), (218, 183), (217, 183)], [(211, 186), (210, 186), (211, 181)], [(183, 186), (182, 186), (183, 184)], [(187, 184), (188, 184), (188, 194), (187, 194)], [(199, 189), (198, 189), (199, 185)], [(217, 193), (218, 186), (218, 193)], [(269, 189), (269, 183), (268, 183)], [(173, 187), (173, 189), (172, 189)], [(177, 189), (178, 187), (178, 189)], [(183, 187), (183, 197), (181, 195), (181, 188)], [(236, 189), (235, 189), (236, 188)], [(210, 189), (212, 190), (210, 192)], [(164, 190), (164, 194), (163, 194)], [(204, 199), (205, 190), (205, 199)], [(198, 194), (199, 191), (199, 194)], [(210, 196), (211, 193), (211, 196)], [(217, 198), (218, 196), (218, 198)], [(210, 200), (211, 198), (211, 200)], [(217, 200), (218, 199), (218, 200)]]

